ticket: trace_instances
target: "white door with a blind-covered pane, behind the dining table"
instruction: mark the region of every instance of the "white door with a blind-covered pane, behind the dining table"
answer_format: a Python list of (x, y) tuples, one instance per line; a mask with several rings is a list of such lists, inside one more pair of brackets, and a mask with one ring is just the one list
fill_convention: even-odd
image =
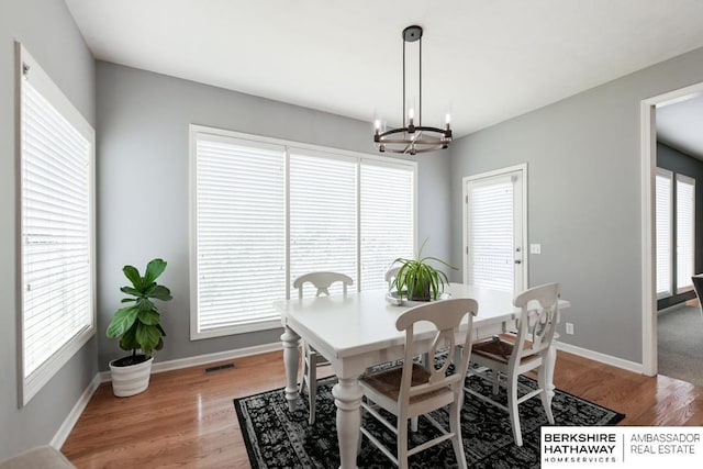
[(464, 179), (465, 281), (517, 293), (527, 284), (526, 166)]

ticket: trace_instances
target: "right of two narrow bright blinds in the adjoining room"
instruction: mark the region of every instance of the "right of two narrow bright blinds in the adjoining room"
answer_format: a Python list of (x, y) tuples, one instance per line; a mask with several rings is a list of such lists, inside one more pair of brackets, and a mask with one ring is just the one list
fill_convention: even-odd
[(693, 288), (695, 256), (695, 180), (677, 175), (677, 292)]

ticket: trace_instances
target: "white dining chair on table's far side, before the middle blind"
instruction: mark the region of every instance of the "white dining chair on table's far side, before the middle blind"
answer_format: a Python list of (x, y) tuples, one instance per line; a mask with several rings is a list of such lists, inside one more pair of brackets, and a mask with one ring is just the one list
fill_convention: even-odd
[[(339, 272), (310, 272), (298, 277), (293, 281), (293, 287), (298, 289), (298, 298), (303, 298), (305, 283), (312, 283), (316, 289), (315, 297), (321, 294), (330, 295), (330, 287), (333, 283), (342, 282), (342, 294), (347, 295), (347, 287), (354, 283), (352, 277)], [(308, 388), (308, 402), (310, 406), (310, 424), (315, 423), (315, 400), (317, 397), (317, 367), (330, 365), (317, 350), (303, 343), (303, 369), (300, 379), (300, 393)]]

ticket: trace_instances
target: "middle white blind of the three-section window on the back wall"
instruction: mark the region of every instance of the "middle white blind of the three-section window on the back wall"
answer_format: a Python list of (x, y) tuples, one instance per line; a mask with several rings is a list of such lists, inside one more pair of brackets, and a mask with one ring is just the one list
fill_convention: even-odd
[[(356, 159), (290, 149), (290, 275), (346, 273), (356, 286)], [(305, 295), (314, 295), (305, 284)], [(354, 288), (353, 290), (356, 290)], [(342, 293), (336, 283), (330, 294)]]

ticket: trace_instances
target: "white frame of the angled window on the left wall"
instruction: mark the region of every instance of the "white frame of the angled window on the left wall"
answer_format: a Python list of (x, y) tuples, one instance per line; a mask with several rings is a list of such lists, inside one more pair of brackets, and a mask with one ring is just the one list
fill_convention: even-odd
[[(30, 400), (36, 395), (42, 388), (66, 365), (71, 357), (80, 350), (90, 338), (96, 334), (97, 328), (97, 311), (96, 311), (96, 133), (82, 114), (74, 107), (70, 100), (63, 93), (57, 85), (44, 71), (40, 64), (31, 56), (21, 43), (15, 43), (16, 58), (16, 245), (18, 245), (18, 263), (16, 263), (16, 291), (18, 291), (18, 373), (19, 373), (19, 405), (26, 405)], [(26, 74), (26, 77), (25, 77)], [(22, 138), (23, 125), (23, 97), (22, 82), (31, 80), (32, 87), (40, 92), (43, 99), (65, 119), (78, 133), (86, 138), (90, 145), (89, 148), (89, 168), (88, 177), (88, 259), (89, 259), (89, 288), (88, 309), (90, 311), (90, 324), (83, 327), (77, 334), (67, 339), (62, 347), (45, 359), (42, 365), (36, 367), (27, 377), (24, 376), (25, 368), (25, 343), (24, 336), (24, 243), (23, 236), (23, 181), (22, 168), (24, 165), (24, 144)]]

